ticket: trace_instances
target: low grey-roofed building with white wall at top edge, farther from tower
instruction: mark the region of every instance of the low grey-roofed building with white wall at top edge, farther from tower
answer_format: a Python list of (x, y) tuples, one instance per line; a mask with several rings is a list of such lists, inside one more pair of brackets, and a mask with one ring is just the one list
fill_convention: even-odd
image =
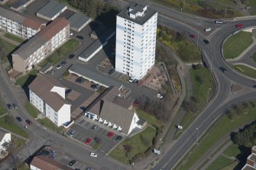
[(37, 17), (43, 18), (47, 21), (53, 21), (57, 18), (63, 11), (66, 10), (66, 5), (61, 4), (55, 0), (50, 0), (47, 5), (37, 11)]

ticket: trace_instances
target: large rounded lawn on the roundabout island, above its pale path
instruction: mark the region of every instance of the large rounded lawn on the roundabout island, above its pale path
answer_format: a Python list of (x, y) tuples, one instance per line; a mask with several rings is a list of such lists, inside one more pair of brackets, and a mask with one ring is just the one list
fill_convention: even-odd
[(228, 37), (223, 44), (225, 59), (234, 59), (239, 56), (252, 42), (252, 34), (245, 31), (240, 31), (238, 34)]

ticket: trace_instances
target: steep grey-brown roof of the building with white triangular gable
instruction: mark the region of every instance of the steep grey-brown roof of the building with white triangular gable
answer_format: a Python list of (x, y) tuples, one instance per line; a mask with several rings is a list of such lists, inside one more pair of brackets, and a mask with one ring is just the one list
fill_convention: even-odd
[(102, 111), (99, 115), (99, 117), (122, 127), (122, 132), (125, 134), (128, 134), (133, 116), (133, 110), (128, 110), (110, 101), (103, 101)]

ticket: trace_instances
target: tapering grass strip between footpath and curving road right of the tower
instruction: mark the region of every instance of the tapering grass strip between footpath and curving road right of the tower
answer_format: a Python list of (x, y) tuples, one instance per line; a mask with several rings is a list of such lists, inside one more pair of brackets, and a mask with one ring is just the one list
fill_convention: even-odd
[[(199, 111), (200, 107), (206, 103), (208, 94), (210, 95), (213, 91), (212, 75), (209, 69), (202, 66), (200, 69), (190, 69), (190, 77), (193, 82), (193, 97), (196, 99), (196, 107)], [(184, 114), (180, 122), (180, 125), (183, 126), (183, 130), (186, 130), (198, 115), (198, 112), (192, 113), (191, 111), (186, 111), (186, 114)], [(173, 136), (173, 140), (176, 140), (181, 134), (182, 132), (177, 130), (177, 133)]]

